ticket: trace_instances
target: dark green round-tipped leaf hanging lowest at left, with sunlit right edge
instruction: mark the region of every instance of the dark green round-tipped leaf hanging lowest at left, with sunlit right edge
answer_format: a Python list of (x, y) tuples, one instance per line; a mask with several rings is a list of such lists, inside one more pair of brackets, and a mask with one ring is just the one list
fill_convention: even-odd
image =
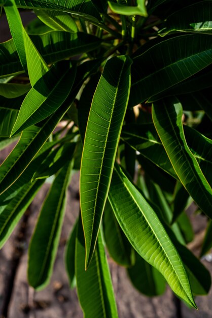
[(71, 162), (58, 172), (41, 209), (30, 242), (28, 281), (36, 290), (44, 289), (52, 275), (65, 212), (70, 172)]

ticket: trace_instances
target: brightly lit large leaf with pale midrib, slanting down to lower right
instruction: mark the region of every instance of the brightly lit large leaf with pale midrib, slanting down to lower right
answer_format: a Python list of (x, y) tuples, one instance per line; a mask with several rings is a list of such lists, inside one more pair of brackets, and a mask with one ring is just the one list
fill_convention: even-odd
[(196, 308), (183, 262), (154, 210), (116, 165), (109, 200), (130, 243), (165, 277), (176, 295)]

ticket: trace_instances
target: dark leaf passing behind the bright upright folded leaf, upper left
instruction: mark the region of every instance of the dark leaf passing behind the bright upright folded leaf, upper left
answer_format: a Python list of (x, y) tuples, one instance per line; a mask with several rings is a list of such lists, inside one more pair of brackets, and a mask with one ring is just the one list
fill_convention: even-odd
[[(48, 64), (89, 52), (101, 43), (99, 38), (82, 32), (49, 31), (40, 36), (31, 35), (30, 39)], [(23, 67), (13, 39), (0, 43), (0, 76), (19, 73), (23, 73)]]

